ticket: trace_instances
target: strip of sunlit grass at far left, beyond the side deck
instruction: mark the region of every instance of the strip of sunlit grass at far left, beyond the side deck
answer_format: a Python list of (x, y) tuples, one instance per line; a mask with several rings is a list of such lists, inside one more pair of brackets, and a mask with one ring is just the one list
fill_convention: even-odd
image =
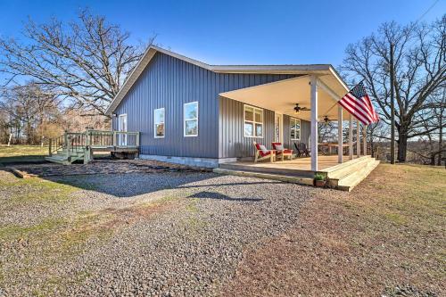
[(0, 163), (14, 161), (43, 161), (48, 155), (48, 147), (40, 145), (0, 144)]

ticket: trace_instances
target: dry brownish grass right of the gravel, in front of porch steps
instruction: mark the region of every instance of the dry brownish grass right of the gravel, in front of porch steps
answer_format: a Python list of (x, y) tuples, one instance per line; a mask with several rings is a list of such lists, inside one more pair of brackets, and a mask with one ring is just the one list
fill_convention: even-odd
[(245, 252), (223, 295), (444, 296), (446, 170), (380, 165), (351, 194), (321, 191), (285, 235)]

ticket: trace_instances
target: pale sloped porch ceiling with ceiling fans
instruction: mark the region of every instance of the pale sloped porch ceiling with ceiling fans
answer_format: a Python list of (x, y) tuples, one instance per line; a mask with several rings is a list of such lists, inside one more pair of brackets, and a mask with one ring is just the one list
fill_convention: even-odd
[[(345, 95), (345, 88), (330, 75), (318, 76), (318, 79), (329, 87), (335, 95), (341, 99)], [(235, 91), (221, 93), (221, 96), (258, 106), (271, 111), (287, 114), (301, 120), (310, 120), (311, 111), (301, 111), (296, 114), (293, 111), (295, 103), (301, 107), (310, 108), (310, 76), (303, 75), (297, 78), (289, 78), (277, 82), (255, 87), (245, 87)], [(335, 105), (335, 106), (334, 106)], [(322, 87), (318, 87), (318, 121), (324, 117), (337, 120), (337, 104), (335, 99), (326, 93)], [(348, 111), (343, 111), (343, 119), (347, 120)]]

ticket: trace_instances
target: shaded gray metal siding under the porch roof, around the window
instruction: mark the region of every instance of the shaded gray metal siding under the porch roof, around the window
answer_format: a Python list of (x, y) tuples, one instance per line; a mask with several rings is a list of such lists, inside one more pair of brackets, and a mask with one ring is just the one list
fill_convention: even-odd
[(220, 97), (219, 106), (219, 158), (252, 157), (253, 141), (271, 146), (274, 140), (274, 111), (263, 109), (263, 137), (245, 137), (244, 103)]

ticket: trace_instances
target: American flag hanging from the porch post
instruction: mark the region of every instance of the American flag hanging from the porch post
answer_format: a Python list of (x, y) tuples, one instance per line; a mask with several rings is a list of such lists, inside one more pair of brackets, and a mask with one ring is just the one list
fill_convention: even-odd
[(376, 123), (379, 120), (362, 81), (344, 95), (338, 103), (364, 125)]

